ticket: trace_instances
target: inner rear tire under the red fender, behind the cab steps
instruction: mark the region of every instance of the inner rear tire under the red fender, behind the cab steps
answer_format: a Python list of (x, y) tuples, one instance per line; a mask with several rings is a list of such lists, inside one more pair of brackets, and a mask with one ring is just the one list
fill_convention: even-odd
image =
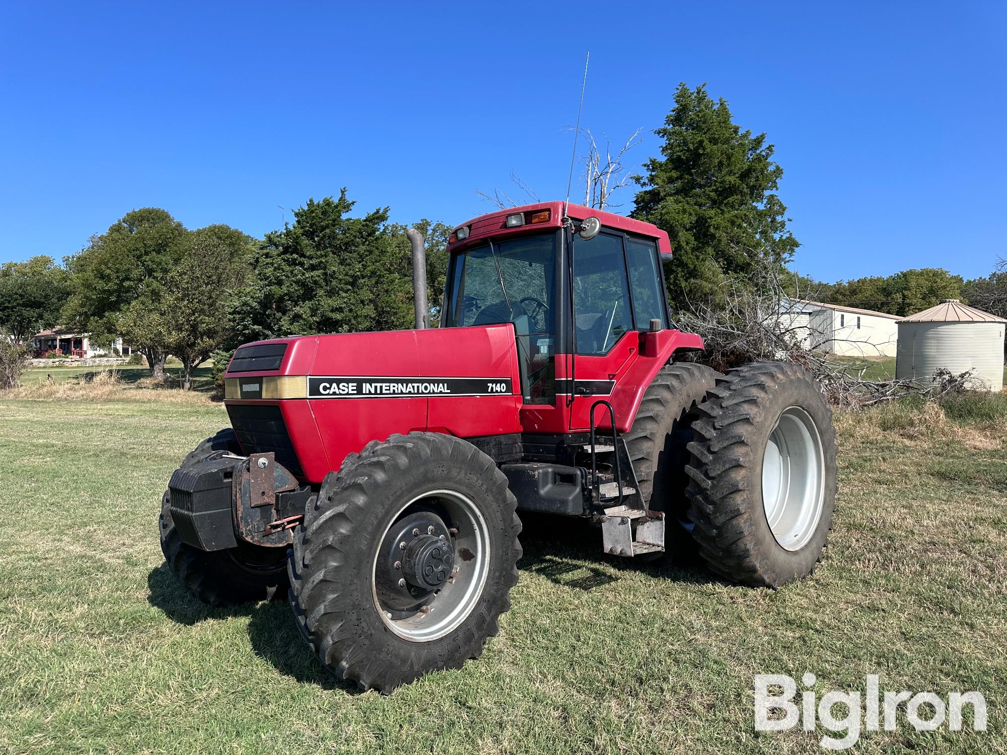
[[(697, 407), (720, 376), (720, 372), (705, 364), (668, 365), (646, 389), (632, 428), (624, 436), (643, 502), (666, 514), (666, 554), (680, 561), (694, 559), (696, 552), (689, 535), (692, 522), (686, 497), (689, 482), (685, 471), (689, 461), (686, 446), (693, 437)], [(660, 559), (663, 555), (656, 556)]]

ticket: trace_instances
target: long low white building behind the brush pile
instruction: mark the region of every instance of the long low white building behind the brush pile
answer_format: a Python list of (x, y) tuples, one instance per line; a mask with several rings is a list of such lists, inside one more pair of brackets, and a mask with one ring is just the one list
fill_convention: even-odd
[(898, 315), (818, 301), (790, 301), (784, 325), (802, 345), (840, 356), (894, 356)]

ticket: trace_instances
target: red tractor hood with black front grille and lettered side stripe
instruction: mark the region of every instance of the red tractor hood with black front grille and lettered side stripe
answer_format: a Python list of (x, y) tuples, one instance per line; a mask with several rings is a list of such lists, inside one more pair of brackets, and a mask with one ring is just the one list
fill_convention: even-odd
[(519, 433), (514, 326), (248, 343), (228, 365), (225, 405), (246, 454), (272, 451), (310, 482), (396, 433)]

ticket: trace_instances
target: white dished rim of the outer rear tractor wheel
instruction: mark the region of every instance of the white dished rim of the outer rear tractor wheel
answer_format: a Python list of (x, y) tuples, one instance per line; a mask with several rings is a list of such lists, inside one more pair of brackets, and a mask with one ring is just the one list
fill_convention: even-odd
[(780, 548), (800, 551), (822, 517), (825, 461), (811, 416), (788, 407), (769, 433), (762, 458), (762, 505)]

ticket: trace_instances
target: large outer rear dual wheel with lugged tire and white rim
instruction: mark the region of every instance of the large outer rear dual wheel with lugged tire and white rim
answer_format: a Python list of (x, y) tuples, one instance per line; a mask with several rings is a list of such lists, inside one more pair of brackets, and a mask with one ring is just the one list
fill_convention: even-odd
[[(796, 364), (745, 364), (717, 381), (699, 414), (686, 471), (689, 516), (700, 556), (723, 577), (755, 587), (778, 587), (812, 574), (822, 559), (836, 504), (836, 434), (818, 384)], [(798, 508), (808, 512), (797, 527), (801, 537), (789, 532), (794, 526), (777, 526), (774, 533), (769, 509), (779, 475), (763, 480), (764, 465), (770, 469), (777, 446), (786, 446), (780, 428), (800, 427), (795, 417), (808, 421), (809, 448), (815, 447), (804, 472), (796, 458), (793, 476), (782, 483), (797, 489), (802, 474), (810, 480), (801, 486), (807, 495), (795, 497), (804, 501)], [(800, 438), (794, 443), (798, 446)]]

